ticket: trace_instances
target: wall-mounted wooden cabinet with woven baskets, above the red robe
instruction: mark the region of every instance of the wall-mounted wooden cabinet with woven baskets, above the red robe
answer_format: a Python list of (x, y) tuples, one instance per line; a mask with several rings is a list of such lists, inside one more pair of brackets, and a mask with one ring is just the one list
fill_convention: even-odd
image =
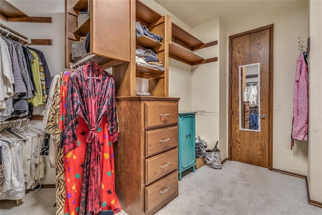
[[(87, 0), (66, 0), (65, 67), (88, 55), (101, 67), (130, 61), (130, 4), (127, 1), (91, 1), (90, 17), (77, 28), (77, 14), (88, 11)], [(122, 15), (122, 16), (120, 16)], [(91, 32), (90, 52), (71, 60), (72, 43)]]

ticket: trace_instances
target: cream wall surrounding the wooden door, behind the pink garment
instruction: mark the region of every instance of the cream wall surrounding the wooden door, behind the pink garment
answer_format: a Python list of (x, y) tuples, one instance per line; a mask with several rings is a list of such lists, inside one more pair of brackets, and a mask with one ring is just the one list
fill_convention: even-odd
[[(256, 17), (227, 23), (227, 37), (274, 24), (273, 168), (302, 175), (307, 173), (308, 143), (295, 141), (291, 151), (290, 134), (295, 66), (299, 55), (297, 38), (307, 38), (307, 7), (308, 2), (302, 1), (273, 12), (263, 12)], [(281, 110), (276, 109), (278, 102), (282, 102)]]

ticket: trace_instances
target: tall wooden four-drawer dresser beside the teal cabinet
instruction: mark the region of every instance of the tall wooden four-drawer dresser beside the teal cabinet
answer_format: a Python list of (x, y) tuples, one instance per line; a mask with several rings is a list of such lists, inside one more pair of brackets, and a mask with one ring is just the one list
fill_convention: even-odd
[(178, 195), (178, 101), (117, 98), (115, 187), (128, 214), (154, 214)]

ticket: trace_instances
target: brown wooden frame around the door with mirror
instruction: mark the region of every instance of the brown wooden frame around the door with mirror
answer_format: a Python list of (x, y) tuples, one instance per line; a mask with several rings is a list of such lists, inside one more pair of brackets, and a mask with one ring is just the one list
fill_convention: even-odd
[(228, 110), (230, 114), (228, 114), (228, 160), (231, 160), (231, 146), (232, 146), (232, 140), (231, 140), (231, 134), (232, 134), (232, 129), (231, 129), (231, 116), (232, 116), (232, 96), (231, 96), (231, 91), (232, 91), (232, 39), (240, 37), (240, 36), (245, 36), (248, 34), (256, 33), (259, 31), (267, 30), (269, 29), (270, 31), (270, 46), (269, 46), (269, 111), (268, 111), (268, 169), (273, 170), (273, 92), (274, 92), (274, 87), (273, 87), (273, 72), (274, 72), (274, 61), (273, 61), (273, 45), (274, 45), (274, 24), (263, 26), (260, 28), (256, 28), (250, 31), (246, 31), (243, 33), (235, 34), (232, 36), (229, 36), (229, 90), (228, 90), (228, 96), (229, 96), (229, 104), (228, 104)]

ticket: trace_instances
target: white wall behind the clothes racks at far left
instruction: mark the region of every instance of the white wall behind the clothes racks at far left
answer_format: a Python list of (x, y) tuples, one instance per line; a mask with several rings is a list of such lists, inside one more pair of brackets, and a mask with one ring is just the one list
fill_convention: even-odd
[[(41, 50), (47, 60), (48, 67), (52, 76), (58, 75), (65, 70), (65, 15), (64, 13), (42, 13), (51, 8), (53, 12), (64, 9), (64, 1), (9, 1), (29, 16), (52, 17), (52, 23), (26, 23), (26, 22), (5, 22), (1, 24), (25, 35), (32, 39), (52, 39), (53, 45), (30, 45), (30, 47)], [(37, 5), (37, 8), (34, 6)], [(38, 14), (35, 14), (38, 13)], [(34, 114), (43, 115), (44, 107), (34, 108)], [(40, 127), (41, 123), (32, 121), (34, 126)], [(46, 169), (45, 178), (42, 184), (55, 184), (55, 170), (49, 168), (48, 158), (45, 156)]]

